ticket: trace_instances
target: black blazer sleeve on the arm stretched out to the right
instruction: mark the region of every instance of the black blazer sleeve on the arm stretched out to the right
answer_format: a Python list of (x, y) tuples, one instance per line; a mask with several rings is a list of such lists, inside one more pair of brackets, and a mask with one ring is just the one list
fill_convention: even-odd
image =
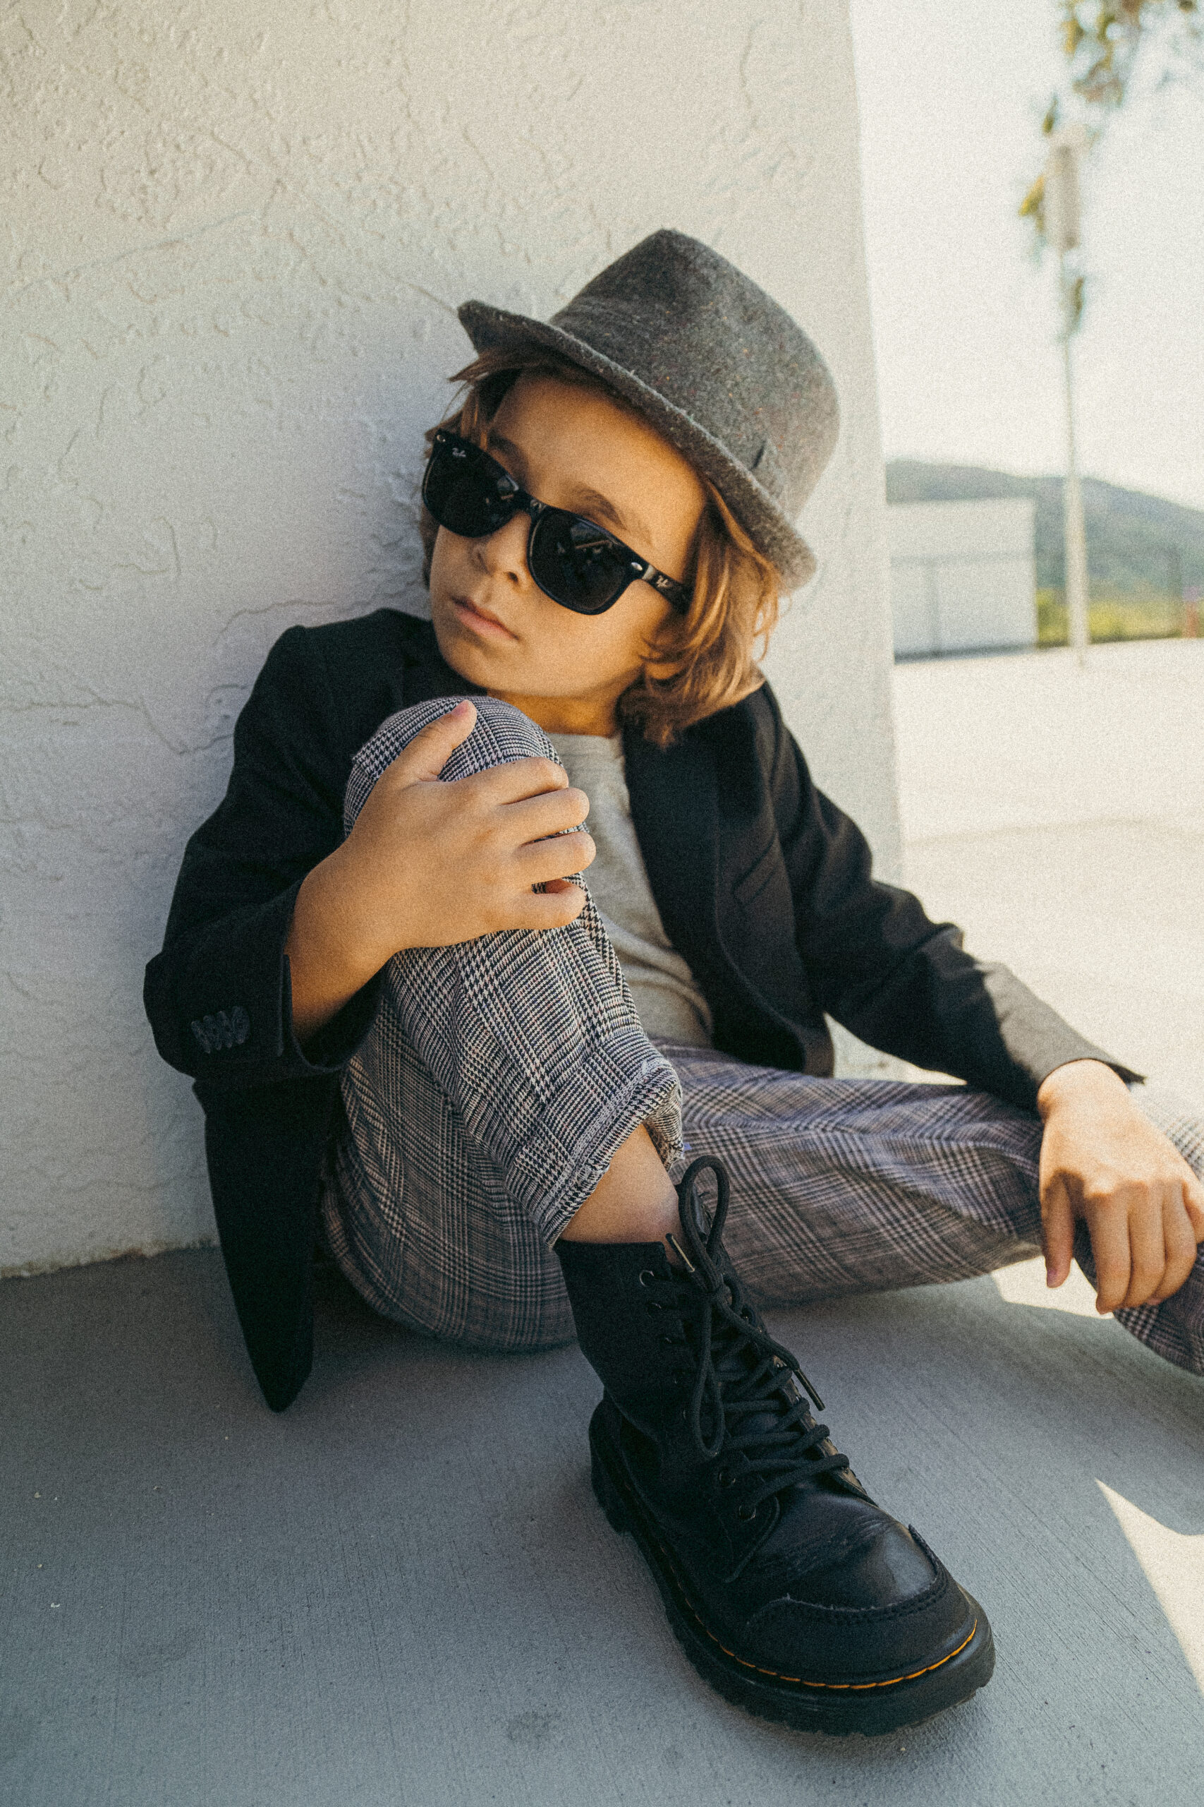
[(810, 779), (774, 714), (771, 790), (791, 878), (798, 950), (821, 1008), (861, 1041), (913, 1066), (1033, 1109), (1067, 1061), (1132, 1068), (1079, 1035), (1007, 967), (977, 960), (951, 922), (874, 878), (865, 835)]

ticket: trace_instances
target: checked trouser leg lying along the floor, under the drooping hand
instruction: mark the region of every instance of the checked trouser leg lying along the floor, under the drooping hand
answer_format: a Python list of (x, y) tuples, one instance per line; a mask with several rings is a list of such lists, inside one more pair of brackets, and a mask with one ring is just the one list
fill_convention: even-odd
[[(682, 1082), (691, 1153), (733, 1182), (726, 1243), (762, 1301), (968, 1279), (1042, 1247), (1042, 1124), (968, 1086), (810, 1079), (711, 1048), (661, 1043)], [(1204, 1178), (1204, 1119), (1135, 1086), (1134, 1099)], [(1087, 1225), (1074, 1254), (1096, 1285)], [(1204, 1249), (1161, 1305), (1116, 1312), (1141, 1343), (1204, 1373)]]

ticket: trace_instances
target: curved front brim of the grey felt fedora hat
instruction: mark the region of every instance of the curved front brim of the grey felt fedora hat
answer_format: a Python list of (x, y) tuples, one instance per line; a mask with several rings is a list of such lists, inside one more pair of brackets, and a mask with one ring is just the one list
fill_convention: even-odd
[(614, 358), (594, 351), (585, 340), (574, 338), (549, 320), (531, 320), (527, 314), (513, 314), (486, 302), (464, 302), (457, 313), (477, 352), (507, 345), (547, 345), (585, 370), (592, 370), (594, 376), (601, 376), (646, 414), (657, 432), (677, 446), (695, 470), (709, 477), (753, 544), (773, 560), (785, 589), (801, 589), (814, 576), (816, 555), (756, 477), (713, 434), (641, 381), (634, 370), (626, 370)]

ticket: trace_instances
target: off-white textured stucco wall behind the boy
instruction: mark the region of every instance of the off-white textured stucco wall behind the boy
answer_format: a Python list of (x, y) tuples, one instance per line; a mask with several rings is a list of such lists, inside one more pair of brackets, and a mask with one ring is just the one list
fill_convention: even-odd
[(415, 477), (469, 295), (547, 313), (671, 224), (841, 394), (771, 656), (897, 831), (856, 98), (839, 0), (107, 0), (0, 18), (0, 1269), (211, 1232), (141, 1008), (273, 640), (422, 613)]

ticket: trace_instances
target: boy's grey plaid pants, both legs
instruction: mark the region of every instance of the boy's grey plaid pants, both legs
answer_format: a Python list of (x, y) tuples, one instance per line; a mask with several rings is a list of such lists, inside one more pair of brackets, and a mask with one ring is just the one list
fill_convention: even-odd
[[(451, 701), (390, 716), (361, 748), (348, 829)], [(518, 710), (475, 703), (444, 779), (556, 759)], [(1204, 1120), (1137, 1095), (1204, 1173)], [(343, 1104), (323, 1185), (336, 1261), (375, 1310), (469, 1348), (572, 1341), (552, 1243), (641, 1122), (671, 1173), (688, 1155), (724, 1160), (724, 1240), (764, 1303), (966, 1279), (1040, 1250), (1036, 1117), (962, 1086), (814, 1079), (653, 1044), (590, 902), (565, 929), (395, 954)], [(1085, 1225), (1076, 1258), (1094, 1283)], [(1204, 1250), (1172, 1299), (1116, 1315), (1204, 1373)]]

